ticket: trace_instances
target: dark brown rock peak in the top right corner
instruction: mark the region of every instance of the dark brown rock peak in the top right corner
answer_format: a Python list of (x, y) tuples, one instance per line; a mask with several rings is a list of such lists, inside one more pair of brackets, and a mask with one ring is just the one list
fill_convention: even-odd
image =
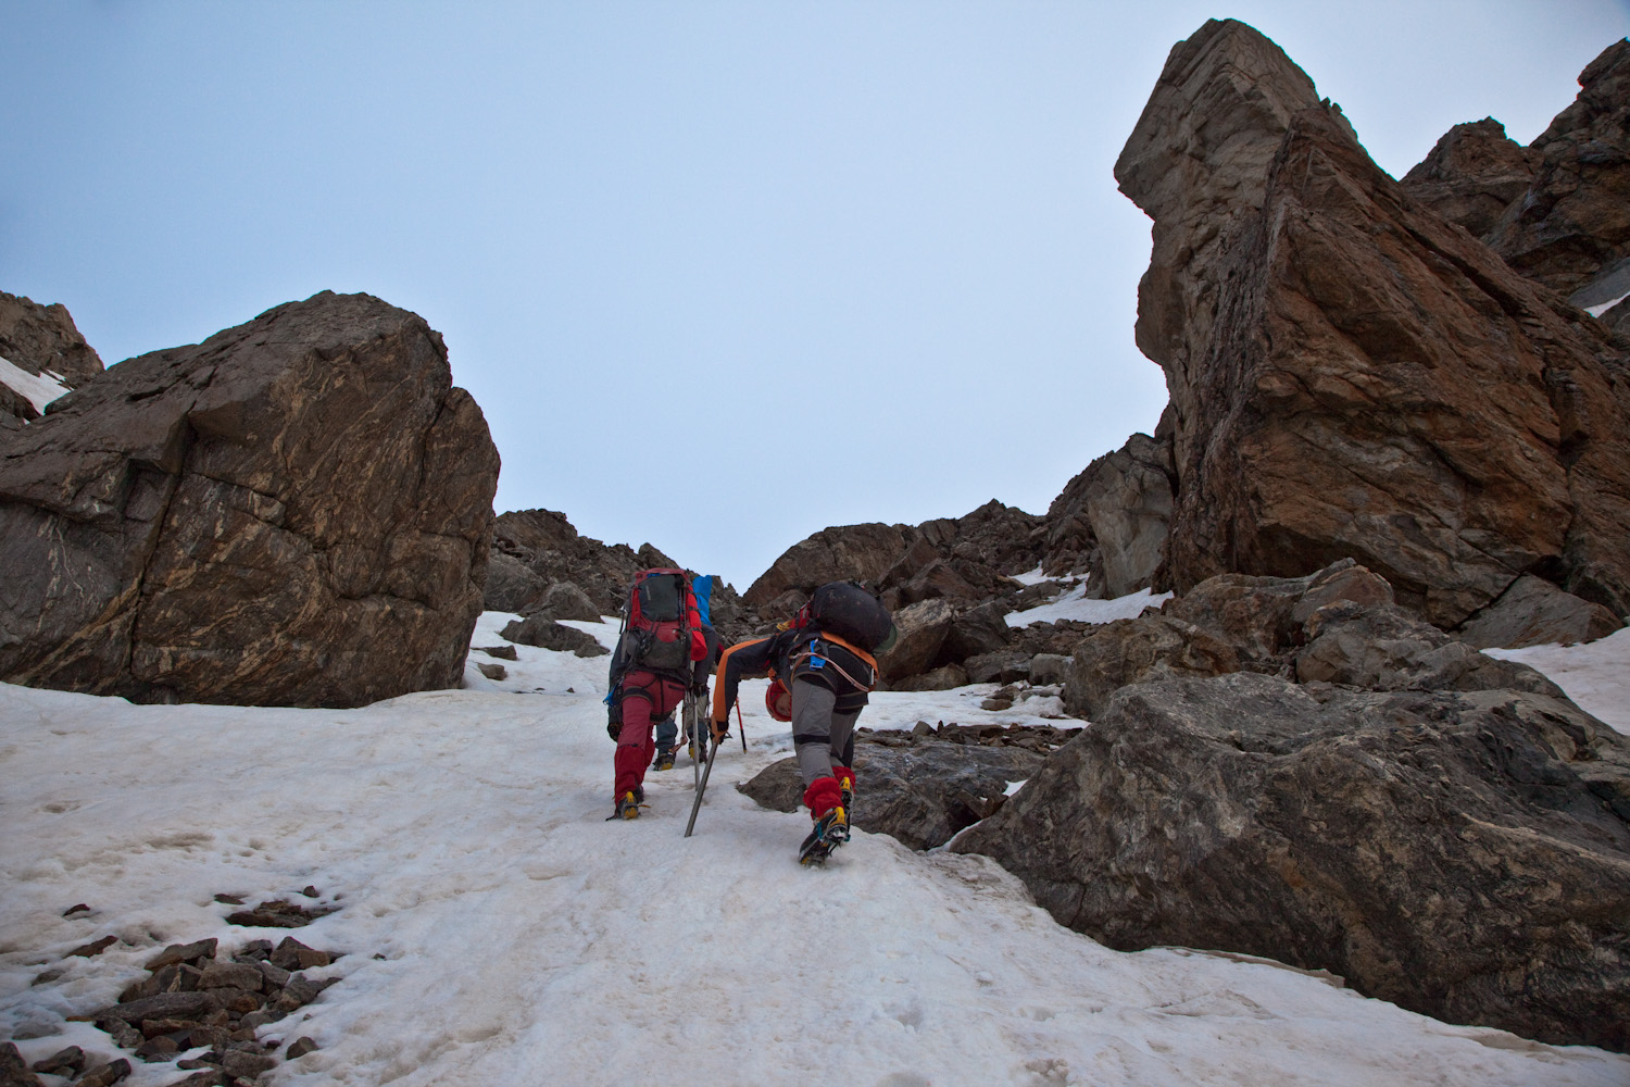
[(1488, 244), (1524, 275), (1570, 293), (1630, 256), (1630, 41), (1579, 73), (1579, 98), (1531, 145), (1534, 184)]

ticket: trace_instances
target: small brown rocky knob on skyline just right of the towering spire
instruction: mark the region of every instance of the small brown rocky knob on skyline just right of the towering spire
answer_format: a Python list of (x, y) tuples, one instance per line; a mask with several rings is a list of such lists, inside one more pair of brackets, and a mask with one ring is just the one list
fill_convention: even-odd
[(1399, 184), (1443, 218), (1482, 238), (1513, 200), (1527, 194), (1540, 158), (1539, 150), (1506, 139), (1506, 125), (1483, 117), (1449, 129)]

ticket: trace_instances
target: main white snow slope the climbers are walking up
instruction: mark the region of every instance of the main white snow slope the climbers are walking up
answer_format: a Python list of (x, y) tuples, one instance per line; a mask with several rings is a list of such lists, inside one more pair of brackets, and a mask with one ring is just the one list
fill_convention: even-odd
[[(474, 644), (507, 618), (482, 616)], [(789, 743), (751, 684), (751, 750), (719, 756), (693, 838), (683, 758), (647, 779), (647, 816), (608, 823), (606, 660), (518, 657), (505, 681), (471, 667), (468, 689), (357, 711), (0, 686), (0, 1036), (29, 1059), (108, 1053), (64, 1019), (111, 1002), (156, 947), (284, 935), (225, 924), (214, 895), (315, 885), (341, 909), (295, 935), (349, 953), (316, 971), (339, 984), (262, 1028), (321, 1045), (279, 1084), (1630, 1082), (1630, 1058), (1280, 965), (1110, 952), (981, 857), (857, 833), (800, 869), (807, 816), (730, 787)], [(973, 702), (883, 696), (862, 724), (978, 720)], [(93, 913), (62, 918), (75, 903)], [(62, 960), (104, 934), (126, 944)], [(47, 968), (65, 973), (31, 984)], [(130, 1087), (183, 1076), (135, 1064)]]

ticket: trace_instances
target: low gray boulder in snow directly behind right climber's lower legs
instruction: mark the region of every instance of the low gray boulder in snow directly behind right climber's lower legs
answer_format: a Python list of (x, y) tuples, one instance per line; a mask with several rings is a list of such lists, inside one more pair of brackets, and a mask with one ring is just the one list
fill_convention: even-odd
[[(1043, 756), (1019, 746), (923, 740), (913, 746), (862, 743), (854, 753), (854, 826), (932, 849), (996, 812), (1007, 784), (1025, 781)], [(771, 763), (737, 789), (766, 808), (795, 812), (804, 800), (797, 759)]]

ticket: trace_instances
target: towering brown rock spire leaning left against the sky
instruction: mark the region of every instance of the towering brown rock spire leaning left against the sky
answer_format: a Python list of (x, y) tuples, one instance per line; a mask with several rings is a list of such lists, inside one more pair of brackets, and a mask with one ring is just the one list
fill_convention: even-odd
[(1531, 570), (1630, 611), (1623, 357), (1415, 204), (1273, 42), (1180, 42), (1117, 178), (1154, 218), (1174, 588), (1355, 557), (1443, 627)]

